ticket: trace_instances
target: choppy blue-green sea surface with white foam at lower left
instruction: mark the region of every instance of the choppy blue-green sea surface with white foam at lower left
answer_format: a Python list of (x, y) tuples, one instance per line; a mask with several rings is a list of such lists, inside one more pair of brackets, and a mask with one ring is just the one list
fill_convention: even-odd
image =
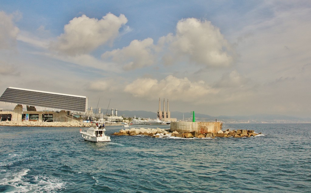
[[(311, 124), (224, 124), (250, 138), (112, 136), (0, 126), (0, 192), (311, 192)], [(140, 126), (137, 126), (138, 128)], [(145, 128), (169, 126), (145, 126)]]

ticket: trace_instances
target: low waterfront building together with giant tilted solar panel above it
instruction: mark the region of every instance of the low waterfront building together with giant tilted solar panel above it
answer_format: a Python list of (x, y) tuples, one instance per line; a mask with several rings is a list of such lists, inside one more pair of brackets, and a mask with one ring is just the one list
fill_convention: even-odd
[[(2, 121), (67, 122), (78, 120), (77, 117), (70, 115), (70, 111), (85, 113), (87, 110), (86, 96), (14, 87), (7, 88), (1, 95), (0, 101), (17, 104), (13, 111), (0, 110), (0, 120)], [(23, 110), (22, 105), (26, 105), (26, 111)], [(60, 112), (37, 111), (35, 106), (59, 109)]]

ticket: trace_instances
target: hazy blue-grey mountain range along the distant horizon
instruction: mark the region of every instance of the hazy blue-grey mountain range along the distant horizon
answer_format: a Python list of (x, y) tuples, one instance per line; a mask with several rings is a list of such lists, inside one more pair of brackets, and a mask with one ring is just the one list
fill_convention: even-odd
[[(111, 110), (102, 109), (102, 112), (110, 112)], [(118, 116), (123, 117), (140, 117), (142, 119), (156, 119), (157, 113), (150, 111), (120, 111), (118, 110)], [(192, 120), (192, 115), (190, 112), (171, 112), (172, 118), (177, 118), (177, 121), (188, 121)], [(196, 121), (199, 122), (211, 122), (211, 121), (221, 121), (225, 123), (311, 123), (311, 118), (299, 118), (291, 117), (285, 115), (268, 115), (268, 114), (256, 114), (249, 116), (217, 116), (213, 117), (210, 115), (195, 113)]]

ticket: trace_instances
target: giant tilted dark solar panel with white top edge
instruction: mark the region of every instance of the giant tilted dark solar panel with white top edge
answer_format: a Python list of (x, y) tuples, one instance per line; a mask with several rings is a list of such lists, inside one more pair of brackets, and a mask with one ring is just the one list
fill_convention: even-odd
[(71, 94), (53, 93), (39, 90), (9, 87), (0, 101), (29, 106), (55, 108), (67, 111), (86, 112), (87, 97)]

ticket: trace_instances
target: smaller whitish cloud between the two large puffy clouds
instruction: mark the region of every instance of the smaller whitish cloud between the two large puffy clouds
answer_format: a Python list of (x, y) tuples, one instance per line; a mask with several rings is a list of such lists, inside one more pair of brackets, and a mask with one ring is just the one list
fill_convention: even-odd
[(124, 70), (151, 66), (155, 62), (153, 39), (133, 40), (127, 47), (105, 52), (102, 58), (111, 58), (113, 62), (122, 65)]

